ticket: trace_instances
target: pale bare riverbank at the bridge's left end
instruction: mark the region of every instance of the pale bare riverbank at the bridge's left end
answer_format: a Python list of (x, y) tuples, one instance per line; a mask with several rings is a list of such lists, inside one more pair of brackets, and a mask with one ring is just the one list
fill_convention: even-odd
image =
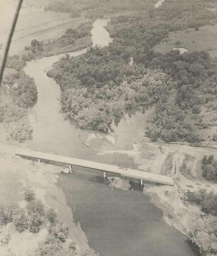
[[(19, 147), (26, 148), (27, 144), (20, 144)], [(62, 189), (56, 186), (58, 173), (60, 171), (68, 172), (68, 170), (60, 166), (38, 164), (17, 157), (15, 151), (19, 147), (0, 144), (0, 204), (15, 202), (22, 206), (25, 203), (24, 188), (29, 187), (46, 206), (53, 207), (58, 211), (58, 220), (68, 225), (68, 236), (76, 242), (79, 248), (89, 248), (87, 238), (79, 223), (73, 222), (73, 214), (70, 207), (67, 206)], [(21, 256), (26, 255), (26, 251), (32, 249), (33, 245), (36, 246), (37, 242), (42, 241), (47, 234), (44, 230), (38, 234), (28, 231), (20, 234), (15, 232), (11, 225), (8, 226), (8, 233), (11, 233), (12, 239), (7, 249), (11, 248), (13, 252)], [(25, 241), (24, 247), (19, 246), (19, 244), (23, 244), (22, 241)], [(0, 246), (0, 255), (4, 255), (1, 252), (5, 252), (5, 248)]]

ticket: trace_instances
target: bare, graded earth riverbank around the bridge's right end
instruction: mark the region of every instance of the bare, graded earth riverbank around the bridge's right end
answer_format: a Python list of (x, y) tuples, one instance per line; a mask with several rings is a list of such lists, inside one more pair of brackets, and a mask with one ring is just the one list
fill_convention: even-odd
[[(214, 148), (142, 142), (129, 146), (128, 150), (114, 150), (111, 149), (111, 143), (107, 139), (106, 134), (102, 136), (101, 133), (97, 134), (97, 132), (86, 132), (85, 135), (83, 131), (81, 133), (83, 143), (97, 151), (99, 155), (126, 154), (134, 160), (139, 170), (172, 176), (175, 183), (174, 187), (150, 185), (145, 182), (143, 193), (149, 195), (151, 202), (163, 211), (163, 218), (170, 226), (175, 227), (188, 236), (189, 224), (193, 219), (197, 219), (201, 214), (204, 214), (204, 212), (198, 206), (186, 203), (186, 200), (184, 200), (185, 192), (188, 189), (190, 191), (196, 191), (198, 188), (206, 188), (207, 191), (213, 190), (217, 192), (217, 184), (201, 178), (200, 173), (201, 159), (204, 155), (213, 154), (214, 157), (217, 157), (217, 152)], [(84, 138), (86, 138), (86, 142)], [(108, 144), (107, 148), (105, 148), (106, 144)], [(163, 154), (159, 150), (159, 146), (161, 145)], [(180, 172), (180, 166), (186, 154), (191, 155), (193, 159), (191, 163), (189, 162), (191, 168), (191, 177), (189, 178), (186, 178)], [(120, 182), (116, 179), (115, 182), (111, 181), (111, 184), (114, 187), (125, 189), (126, 182), (127, 180)], [(196, 182), (200, 182), (201, 186), (196, 185)], [(124, 184), (123, 188), (122, 183)], [(186, 187), (186, 185), (193, 185), (193, 188)], [(210, 185), (210, 187), (206, 187), (206, 185)]]

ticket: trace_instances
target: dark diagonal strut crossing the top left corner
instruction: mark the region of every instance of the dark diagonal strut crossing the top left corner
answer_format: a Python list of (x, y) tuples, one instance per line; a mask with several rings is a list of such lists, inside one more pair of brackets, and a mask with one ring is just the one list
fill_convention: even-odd
[(1, 80), (2, 80), (2, 77), (3, 77), (5, 64), (6, 64), (7, 57), (8, 57), (8, 51), (9, 51), (9, 48), (10, 48), (10, 45), (11, 45), (11, 39), (12, 39), (12, 36), (13, 36), (13, 32), (15, 30), (15, 26), (16, 26), (16, 23), (17, 23), (17, 18), (19, 16), (19, 12), (20, 12), (20, 8), (21, 8), (22, 3), (23, 3), (23, 0), (19, 0), (19, 3), (17, 5), (17, 10), (16, 10), (16, 13), (15, 13), (15, 16), (14, 16), (14, 19), (13, 19), (13, 23), (12, 23), (12, 26), (11, 26), (10, 34), (9, 34), (9, 37), (8, 37), (7, 45), (5, 47), (5, 52), (4, 52), (3, 60), (2, 60), (2, 63), (1, 63), (1, 69), (0, 69), (0, 86), (1, 86)]

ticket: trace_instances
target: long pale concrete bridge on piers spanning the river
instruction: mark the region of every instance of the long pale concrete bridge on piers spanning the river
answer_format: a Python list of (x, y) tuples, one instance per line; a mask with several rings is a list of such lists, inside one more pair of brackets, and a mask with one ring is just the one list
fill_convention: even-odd
[(88, 169), (99, 170), (103, 172), (104, 177), (106, 177), (106, 172), (107, 172), (107, 173), (119, 174), (126, 177), (137, 178), (140, 180), (141, 185), (143, 184), (143, 180), (145, 180), (145, 181), (157, 182), (160, 184), (174, 186), (173, 179), (170, 176), (161, 175), (157, 173), (149, 173), (149, 172), (134, 170), (130, 168), (129, 169), (123, 168), (116, 165), (109, 165), (106, 163), (98, 163), (98, 162), (72, 158), (72, 157), (64, 157), (61, 155), (48, 154), (48, 153), (43, 153), (38, 151), (19, 150), (17, 151), (16, 155), (19, 155), (20, 157), (24, 157), (24, 158), (28, 157), (30, 159), (31, 158), (36, 160), (38, 159), (38, 162), (43, 160), (43, 161), (52, 161), (56, 163), (63, 163), (68, 165), (70, 170), (72, 170), (72, 166), (80, 166), (80, 167), (86, 167)]

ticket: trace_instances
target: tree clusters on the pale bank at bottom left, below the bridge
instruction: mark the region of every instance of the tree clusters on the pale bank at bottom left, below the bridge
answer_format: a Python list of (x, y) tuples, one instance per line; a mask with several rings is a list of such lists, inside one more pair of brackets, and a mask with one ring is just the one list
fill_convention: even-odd
[[(26, 188), (24, 191), (27, 207), (21, 208), (18, 204), (11, 203), (0, 205), (0, 226), (12, 222), (20, 233), (29, 230), (38, 233), (42, 225), (47, 227), (46, 239), (39, 242), (37, 248), (27, 252), (29, 256), (99, 256), (93, 249), (79, 249), (68, 237), (68, 226), (56, 219), (56, 211), (53, 208), (46, 209), (45, 205), (35, 198), (35, 193)], [(6, 237), (10, 239), (10, 237)]]

